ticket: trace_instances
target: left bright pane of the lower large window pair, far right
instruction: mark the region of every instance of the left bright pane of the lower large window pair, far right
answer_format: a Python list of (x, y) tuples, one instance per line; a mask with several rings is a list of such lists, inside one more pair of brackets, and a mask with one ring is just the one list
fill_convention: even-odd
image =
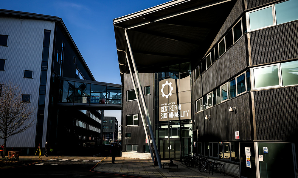
[(280, 85), (278, 65), (253, 69), (254, 88), (266, 88)]

